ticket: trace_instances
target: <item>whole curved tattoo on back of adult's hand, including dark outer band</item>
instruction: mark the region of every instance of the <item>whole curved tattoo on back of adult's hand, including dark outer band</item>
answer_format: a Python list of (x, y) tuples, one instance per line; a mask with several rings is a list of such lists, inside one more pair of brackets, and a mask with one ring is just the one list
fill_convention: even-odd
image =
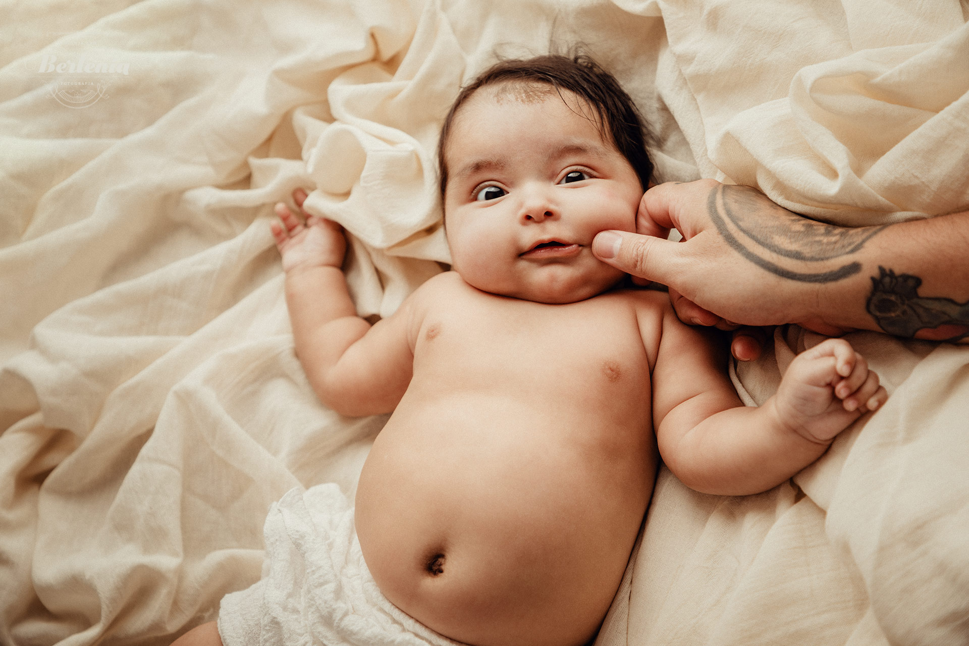
[(718, 186), (710, 193), (707, 208), (717, 230), (737, 253), (777, 276), (803, 283), (838, 281), (860, 272), (861, 264), (852, 261), (827, 271), (794, 271), (767, 260), (766, 254), (793, 261), (828, 262), (858, 252), (885, 229), (817, 222), (766, 201), (746, 186)]

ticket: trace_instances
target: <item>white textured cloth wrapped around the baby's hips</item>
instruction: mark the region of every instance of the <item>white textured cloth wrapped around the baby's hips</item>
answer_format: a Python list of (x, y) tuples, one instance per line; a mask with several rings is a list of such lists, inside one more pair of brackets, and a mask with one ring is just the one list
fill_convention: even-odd
[(269, 508), (263, 578), (226, 596), (225, 646), (457, 644), (398, 610), (363, 562), (354, 509), (333, 483), (293, 489)]

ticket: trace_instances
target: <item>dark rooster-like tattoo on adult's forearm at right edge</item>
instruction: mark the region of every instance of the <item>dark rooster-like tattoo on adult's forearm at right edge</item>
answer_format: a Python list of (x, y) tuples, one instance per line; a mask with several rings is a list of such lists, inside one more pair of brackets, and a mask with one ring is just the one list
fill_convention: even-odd
[(969, 336), (969, 301), (919, 295), (922, 279), (878, 267), (871, 277), (865, 309), (889, 334), (932, 341), (959, 341)]

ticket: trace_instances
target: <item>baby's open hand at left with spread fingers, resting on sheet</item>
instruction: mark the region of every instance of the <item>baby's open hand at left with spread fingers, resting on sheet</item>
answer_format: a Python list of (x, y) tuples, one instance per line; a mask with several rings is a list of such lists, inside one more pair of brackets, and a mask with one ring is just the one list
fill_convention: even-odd
[(293, 200), (305, 217), (305, 224), (293, 214), (289, 206), (278, 202), (275, 211), (279, 221), (273, 221), (269, 225), (272, 236), (276, 239), (276, 248), (283, 257), (283, 271), (288, 272), (297, 267), (339, 268), (347, 251), (347, 238), (343, 235), (343, 228), (324, 218), (306, 215), (302, 211), (306, 192), (302, 189), (293, 192)]

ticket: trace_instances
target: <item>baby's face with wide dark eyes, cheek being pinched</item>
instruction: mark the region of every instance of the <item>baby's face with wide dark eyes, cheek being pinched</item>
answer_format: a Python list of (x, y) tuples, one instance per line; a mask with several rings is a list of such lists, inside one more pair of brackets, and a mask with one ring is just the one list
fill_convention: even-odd
[(562, 95), (568, 105), (554, 90), (522, 100), (485, 87), (453, 121), (448, 243), (453, 268), (479, 290), (570, 303), (622, 278), (592, 255), (592, 238), (636, 230), (640, 180), (600, 137), (595, 113)]

